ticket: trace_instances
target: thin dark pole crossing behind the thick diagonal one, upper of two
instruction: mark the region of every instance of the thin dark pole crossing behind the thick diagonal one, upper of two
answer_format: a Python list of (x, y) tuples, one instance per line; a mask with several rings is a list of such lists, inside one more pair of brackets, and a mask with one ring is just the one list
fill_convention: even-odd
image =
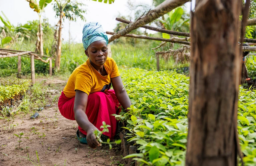
[[(128, 21), (128, 20), (124, 20), (121, 18), (115, 18), (116, 21), (122, 22), (122, 23), (126, 23), (126, 24), (130, 24), (132, 23), (132, 21)], [(165, 33), (165, 34), (170, 34), (170, 35), (177, 35), (177, 36), (185, 36), (185, 37), (190, 37), (190, 33), (187, 32), (176, 32), (176, 31), (170, 31), (170, 30), (165, 30), (165, 29), (161, 29), (161, 28), (156, 28), (156, 27), (151, 27), (151, 26), (141, 26), (141, 28), (145, 28), (148, 30), (152, 30), (152, 31), (156, 31), (156, 32), (161, 32), (161, 33)]]

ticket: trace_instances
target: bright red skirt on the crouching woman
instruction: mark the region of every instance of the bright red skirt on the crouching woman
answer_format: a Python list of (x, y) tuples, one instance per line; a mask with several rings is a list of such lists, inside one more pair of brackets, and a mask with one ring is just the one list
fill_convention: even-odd
[[(74, 100), (73, 98), (68, 98), (64, 95), (63, 91), (59, 97), (58, 107), (61, 115), (69, 120), (75, 120), (74, 116)], [(110, 125), (108, 127), (109, 132), (103, 132), (104, 135), (109, 136), (113, 139), (116, 131), (116, 119), (112, 114), (118, 114), (121, 111), (120, 106), (114, 90), (108, 90), (106, 92), (94, 92), (88, 95), (88, 101), (86, 106), (85, 114), (88, 117), (90, 123), (92, 123), (98, 130), (102, 131), (100, 128), (102, 122)], [(83, 133), (87, 134), (80, 126), (78, 129)]]

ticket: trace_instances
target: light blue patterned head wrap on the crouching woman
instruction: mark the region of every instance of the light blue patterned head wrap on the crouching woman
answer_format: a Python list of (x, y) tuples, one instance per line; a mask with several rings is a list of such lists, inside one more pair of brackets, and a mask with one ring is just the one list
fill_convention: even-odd
[(84, 25), (82, 41), (85, 50), (94, 41), (104, 41), (108, 44), (107, 34), (98, 22), (89, 22)]

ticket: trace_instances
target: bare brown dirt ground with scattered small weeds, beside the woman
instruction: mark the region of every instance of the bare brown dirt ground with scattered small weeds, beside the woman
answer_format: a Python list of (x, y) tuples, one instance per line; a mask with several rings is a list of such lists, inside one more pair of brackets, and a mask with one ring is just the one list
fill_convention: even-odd
[[(57, 100), (66, 80), (37, 79), (44, 81), (49, 89), (47, 105), (36, 119), (30, 119), (31, 114), (18, 115), (8, 124), (0, 120), (0, 166), (12, 165), (122, 165), (119, 146), (102, 145), (91, 149), (88, 145), (79, 143), (76, 138), (78, 125), (67, 120), (58, 110)], [(14, 130), (6, 130), (7, 125), (16, 125)], [(14, 134), (23, 132), (20, 139)], [(8, 156), (6, 156), (6, 155)], [(37, 157), (38, 156), (38, 157)]]

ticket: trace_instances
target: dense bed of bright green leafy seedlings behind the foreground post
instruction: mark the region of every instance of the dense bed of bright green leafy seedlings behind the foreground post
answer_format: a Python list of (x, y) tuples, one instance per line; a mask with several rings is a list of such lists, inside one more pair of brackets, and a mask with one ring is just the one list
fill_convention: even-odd
[[(140, 153), (130, 154), (144, 165), (185, 165), (188, 135), (189, 77), (174, 71), (121, 68), (121, 77), (132, 106), (115, 115), (128, 141)], [(238, 133), (246, 166), (256, 161), (256, 93), (240, 87)]]

